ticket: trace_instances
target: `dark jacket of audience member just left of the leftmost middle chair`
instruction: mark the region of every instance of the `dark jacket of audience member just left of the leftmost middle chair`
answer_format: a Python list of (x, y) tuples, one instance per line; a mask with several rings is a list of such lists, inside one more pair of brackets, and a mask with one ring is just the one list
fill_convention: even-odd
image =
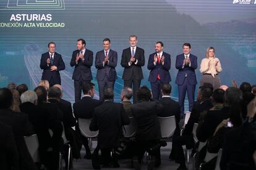
[(48, 101), (50, 103), (56, 103), (58, 105), (59, 110), (62, 111), (64, 128), (75, 126), (76, 119), (73, 116), (73, 111), (70, 102), (67, 102), (63, 99), (59, 101), (55, 99), (48, 99)]

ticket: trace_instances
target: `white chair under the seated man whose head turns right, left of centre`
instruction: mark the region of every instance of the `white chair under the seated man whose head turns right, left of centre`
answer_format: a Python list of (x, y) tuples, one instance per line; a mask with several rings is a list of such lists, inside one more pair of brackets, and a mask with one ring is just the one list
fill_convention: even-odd
[(81, 134), (88, 138), (88, 144), (90, 150), (92, 150), (92, 138), (97, 137), (99, 134), (99, 131), (90, 131), (90, 123), (92, 119), (81, 119), (79, 118), (79, 129), (81, 131)]

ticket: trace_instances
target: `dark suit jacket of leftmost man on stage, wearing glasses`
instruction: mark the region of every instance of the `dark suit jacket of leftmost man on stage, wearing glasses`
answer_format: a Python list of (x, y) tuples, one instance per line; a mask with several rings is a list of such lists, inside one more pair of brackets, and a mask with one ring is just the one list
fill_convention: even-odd
[(43, 75), (41, 79), (47, 79), (48, 81), (53, 78), (54, 83), (61, 84), (61, 76), (59, 75), (59, 71), (65, 69), (65, 63), (62, 60), (61, 54), (54, 52), (53, 56), (53, 65), (57, 67), (57, 70), (51, 71), (51, 63), (47, 65), (46, 60), (50, 59), (49, 52), (42, 54), (40, 68), (43, 70)]

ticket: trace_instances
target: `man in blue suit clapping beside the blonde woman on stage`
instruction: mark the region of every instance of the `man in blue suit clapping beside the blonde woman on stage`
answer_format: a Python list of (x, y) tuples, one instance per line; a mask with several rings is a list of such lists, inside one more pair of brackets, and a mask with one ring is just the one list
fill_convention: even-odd
[(176, 84), (179, 92), (179, 106), (181, 107), (181, 115), (184, 115), (184, 100), (189, 98), (189, 111), (192, 110), (195, 98), (195, 69), (197, 69), (197, 57), (190, 54), (191, 46), (189, 43), (183, 44), (183, 54), (176, 57), (176, 68), (179, 70), (176, 77)]

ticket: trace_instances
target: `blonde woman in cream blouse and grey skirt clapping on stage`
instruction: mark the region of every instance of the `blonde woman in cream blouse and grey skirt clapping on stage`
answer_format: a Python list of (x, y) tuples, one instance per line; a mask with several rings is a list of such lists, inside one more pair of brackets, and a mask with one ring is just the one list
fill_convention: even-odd
[(218, 58), (215, 57), (215, 49), (213, 47), (208, 47), (205, 59), (202, 60), (200, 65), (200, 72), (203, 74), (200, 80), (200, 86), (203, 83), (213, 84), (213, 89), (218, 89), (221, 86), (221, 81), (218, 73), (222, 71), (221, 63)]

